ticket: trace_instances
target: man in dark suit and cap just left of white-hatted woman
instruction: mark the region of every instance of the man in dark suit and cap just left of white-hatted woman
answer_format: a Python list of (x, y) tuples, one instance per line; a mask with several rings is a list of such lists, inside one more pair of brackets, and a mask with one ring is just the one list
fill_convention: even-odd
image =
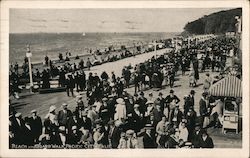
[(42, 134), (43, 124), (41, 117), (37, 116), (36, 110), (32, 110), (31, 114), (32, 114), (32, 116), (30, 117), (31, 132), (34, 135), (34, 142), (37, 143), (39, 136)]

